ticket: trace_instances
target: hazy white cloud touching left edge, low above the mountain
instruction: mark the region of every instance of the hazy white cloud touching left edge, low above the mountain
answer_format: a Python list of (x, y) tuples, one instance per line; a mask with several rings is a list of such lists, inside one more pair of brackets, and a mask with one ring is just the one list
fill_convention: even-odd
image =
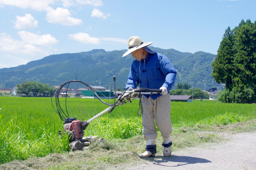
[(36, 53), (43, 53), (43, 50), (39, 47), (32, 46), (30, 44), (24, 44), (21, 41), (13, 39), (6, 33), (0, 34), (0, 50), (6, 52), (12, 52), (15, 54), (27, 54), (35, 55)]

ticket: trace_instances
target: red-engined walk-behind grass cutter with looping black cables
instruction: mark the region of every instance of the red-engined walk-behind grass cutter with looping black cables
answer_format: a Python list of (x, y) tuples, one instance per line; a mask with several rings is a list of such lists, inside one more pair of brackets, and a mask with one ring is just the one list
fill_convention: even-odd
[[(93, 116), (91, 119), (89, 119), (87, 121), (76, 120), (75, 117), (70, 118), (69, 114), (68, 114), (68, 109), (67, 109), (67, 95), (66, 95), (66, 100), (65, 100), (65, 108), (66, 108), (65, 109), (66, 112), (65, 112), (60, 106), (59, 94), (60, 94), (61, 89), (64, 86), (66, 86), (66, 85), (69, 86), (70, 83), (74, 83), (74, 82), (82, 83), (82, 84), (86, 85), (87, 87), (89, 87), (94, 92), (94, 94), (97, 96), (97, 98), (102, 103), (106, 104), (109, 107), (106, 108), (105, 110), (103, 110), (102, 112), (100, 112), (99, 114)], [(115, 76), (114, 76), (114, 83), (116, 83), (116, 77)], [(159, 89), (154, 90), (154, 89), (147, 89), (147, 88), (137, 88), (137, 89), (128, 89), (128, 90), (125, 89), (125, 90), (126, 91), (123, 95), (118, 96), (117, 101), (116, 101), (116, 98), (114, 97), (115, 100), (114, 100), (113, 103), (104, 102), (103, 100), (101, 100), (101, 98), (98, 96), (98, 94), (96, 93), (96, 91), (94, 90), (94, 88), (91, 85), (89, 85), (88, 83), (84, 83), (82, 81), (78, 81), (78, 80), (70, 80), (68, 82), (65, 82), (65, 83), (61, 84), (55, 90), (55, 92), (53, 94), (53, 96), (55, 98), (55, 100), (54, 100), (55, 101), (55, 107), (53, 105), (53, 100), (52, 100), (52, 107), (59, 114), (61, 121), (63, 121), (63, 123), (64, 123), (64, 131), (59, 130), (59, 135), (61, 137), (63, 133), (68, 134), (70, 149), (72, 149), (73, 151), (83, 150), (84, 145), (90, 144), (90, 139), (98, 137), (98, 136), (84, 137), (84, 130), (87, 128), (88, 124), (91, 121), (93, 121), (94, 119), (96, 119), (100, 115), (103, 115), (106, 112), (108, 112), (108, 113), (112, 112), (115, 109), (116, 106), (121, 106), (121, 105), (125, 104), (127, 101), (129, 103), (131, 103), (132, 99), (135, 99), (135, 97), (141, 97), (142, 94), (153, 94), (153, 93), (161, 93), (162, 92), (162, 90), (159, 90)], [(66, 94), (67, 94), (67, 91), (68, 91), (68, 87), (66, 88)], [(115, 84), (115, 92), (116, 92), (116, 84)], [(115, 96), (116, 96), (116, 94), (115, 94)], [(110, 101), (110, 102), (112, 102), (112, 101)], [(138, 110), (138, 113), (139, 113), (139, 110)]]

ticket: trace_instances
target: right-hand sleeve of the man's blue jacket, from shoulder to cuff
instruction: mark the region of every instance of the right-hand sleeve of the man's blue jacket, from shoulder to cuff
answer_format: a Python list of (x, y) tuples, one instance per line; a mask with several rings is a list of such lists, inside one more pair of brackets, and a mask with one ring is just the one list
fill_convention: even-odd
[(168, 92), (172, 89), (176, 78), (177, 71), (174, 69), (171, 61), (165, 55), (159, 56), (160, 70), (165, 76), (165, 82), (162, 86), (166, 87)]

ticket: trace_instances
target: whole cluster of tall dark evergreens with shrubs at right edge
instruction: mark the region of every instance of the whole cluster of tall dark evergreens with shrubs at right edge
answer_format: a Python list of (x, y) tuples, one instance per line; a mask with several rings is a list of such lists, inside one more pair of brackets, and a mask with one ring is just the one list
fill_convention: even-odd
[(233, 30), (226, 29), (212, 67), (212, 77), (225, 84), (219, 101), (256, 102), (256, 21), (242, 20)]

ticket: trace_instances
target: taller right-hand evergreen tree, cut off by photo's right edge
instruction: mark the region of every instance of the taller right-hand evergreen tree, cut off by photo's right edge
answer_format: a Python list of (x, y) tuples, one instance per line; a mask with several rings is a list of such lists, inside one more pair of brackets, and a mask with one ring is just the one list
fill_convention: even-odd
[[(241, 22), (242, 23), (242, 22)], [(234, 78), (235, 88), (251, 88), (256, 92), (256, 22), (250, 19), (234, 29), (235, 50)], [(240, 92), (241, 92), (240, 90)]]

